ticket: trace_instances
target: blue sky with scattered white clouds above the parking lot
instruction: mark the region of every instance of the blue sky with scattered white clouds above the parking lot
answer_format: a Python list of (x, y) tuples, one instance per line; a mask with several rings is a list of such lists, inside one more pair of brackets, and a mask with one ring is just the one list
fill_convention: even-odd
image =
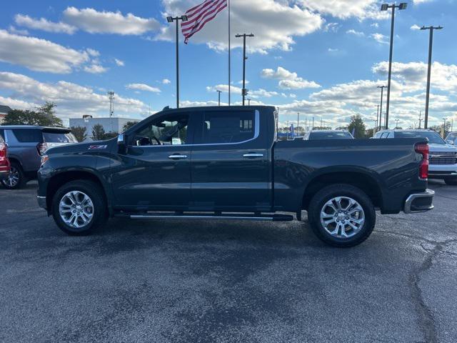
[[(0, 11), (0, 104), (54, 101), (62, 119), (114, 114), (144, 119), (176, 106), (175, 26), (203, 0), (8, 1)], [(242, 39), (251, 104), (278, 106), (281, 123), (333, 128), (376, 119), (387, 84), (390, 11), (373, 0), (231, 0), (232, 103), (241, 103)], [(429, 125), (457, 124), (457, 1), (412, 0), (396, 11), (390, 124), (417, 126), (425, 109), (428, 31), (433, 36)], [(228, 11), (184, 44), (181, 106), (228, 103)], [(384, 94), (386, 95), (386, 94)], [(383, 101), (385, 111), (386, 96)], [(64, 121), (66, 122), (66, 120)]]

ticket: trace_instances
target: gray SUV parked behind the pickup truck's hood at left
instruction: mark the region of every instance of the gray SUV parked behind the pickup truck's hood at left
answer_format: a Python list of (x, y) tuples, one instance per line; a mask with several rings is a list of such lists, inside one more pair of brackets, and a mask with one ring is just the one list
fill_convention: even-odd
[(0, 126), (0, 135), (8, 145), (11, 172), (1, 181), (7, 189), (23, 187), (36, 179), (41, 156), (52, 146), (77, 143), (70, 129), (11, 125)]

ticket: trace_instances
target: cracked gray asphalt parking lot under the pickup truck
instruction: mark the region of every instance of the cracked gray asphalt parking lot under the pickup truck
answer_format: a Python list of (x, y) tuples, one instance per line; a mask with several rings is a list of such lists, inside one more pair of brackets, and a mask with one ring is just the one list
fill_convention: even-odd
[(67, 237), (0, 189), (0, 342), (456, 342), (457, 187), (359, 247), (302, 223), (129, 221)]

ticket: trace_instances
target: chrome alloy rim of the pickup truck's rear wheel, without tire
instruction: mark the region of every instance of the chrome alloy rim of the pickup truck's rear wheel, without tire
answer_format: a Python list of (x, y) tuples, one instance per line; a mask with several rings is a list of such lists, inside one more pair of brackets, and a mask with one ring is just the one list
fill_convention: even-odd
[(349, 197), (335, 197), (328, 200), (321, 209), (323, 229), (333, 237), (348, 239), (363, 227), (365, 212), (361, 204)]

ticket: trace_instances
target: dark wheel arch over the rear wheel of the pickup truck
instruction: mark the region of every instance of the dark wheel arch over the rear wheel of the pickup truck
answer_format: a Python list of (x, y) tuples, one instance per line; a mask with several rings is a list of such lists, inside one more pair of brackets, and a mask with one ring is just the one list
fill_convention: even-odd
[(308, 209), (309, 203), (320, 189), (330, 184), (350, 184), (365, 192), (375, 207), (382, 207), (383, 196), (379, 182), (370, 174), (364, 172), (328, 172), (313, 177), (303, 192), (302, 209)]

